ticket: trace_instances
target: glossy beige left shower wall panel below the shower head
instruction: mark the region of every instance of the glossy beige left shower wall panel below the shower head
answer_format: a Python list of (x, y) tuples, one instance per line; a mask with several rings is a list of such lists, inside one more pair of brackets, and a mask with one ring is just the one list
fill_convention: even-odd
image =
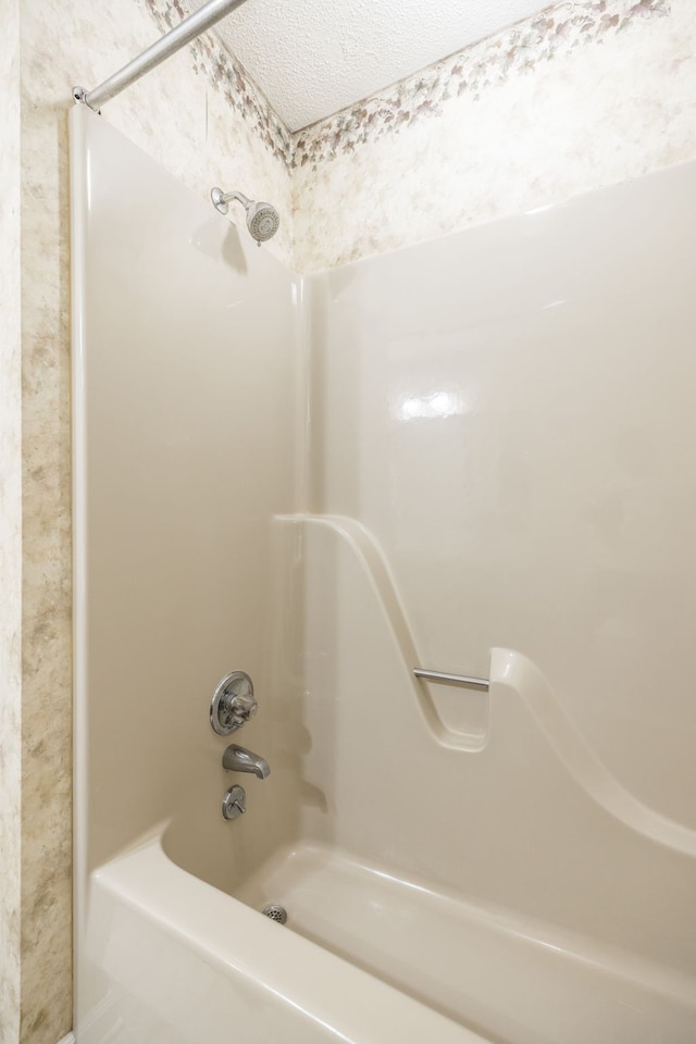
[(237, 669), (268, 691), (296, 344), (283, 265), (85, 107), (71, 120), (82, 890), (191, 795), (225, 825), (210, 698)]

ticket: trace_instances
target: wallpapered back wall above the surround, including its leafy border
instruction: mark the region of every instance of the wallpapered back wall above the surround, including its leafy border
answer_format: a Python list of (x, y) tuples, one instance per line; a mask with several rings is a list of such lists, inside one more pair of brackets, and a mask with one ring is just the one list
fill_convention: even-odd
[(693, 0), (561, 3), (299, 133), (316, 271), (696, 154)]

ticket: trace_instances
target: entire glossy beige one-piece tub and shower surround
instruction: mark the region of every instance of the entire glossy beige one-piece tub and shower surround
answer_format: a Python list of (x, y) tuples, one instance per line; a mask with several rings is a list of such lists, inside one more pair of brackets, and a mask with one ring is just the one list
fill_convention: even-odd
[(689, 1044), (694, 164), (298, 277), (72, 119), (78, 1044)]

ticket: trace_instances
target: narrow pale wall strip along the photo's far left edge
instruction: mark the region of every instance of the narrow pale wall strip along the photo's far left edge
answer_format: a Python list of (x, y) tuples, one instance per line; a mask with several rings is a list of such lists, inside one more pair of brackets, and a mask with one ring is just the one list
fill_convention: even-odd
[(18, 0), (1, 0), (0, 24), (0, 1042), (15, 1044), (22, 694)]

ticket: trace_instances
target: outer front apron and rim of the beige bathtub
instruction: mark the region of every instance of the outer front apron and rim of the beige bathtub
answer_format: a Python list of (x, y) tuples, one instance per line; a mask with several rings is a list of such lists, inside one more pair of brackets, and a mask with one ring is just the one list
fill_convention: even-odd
[(176, 867), (161, 838), (98, 871), (87, 954), (108, 984), (80, 1044), (478, 1041)]

